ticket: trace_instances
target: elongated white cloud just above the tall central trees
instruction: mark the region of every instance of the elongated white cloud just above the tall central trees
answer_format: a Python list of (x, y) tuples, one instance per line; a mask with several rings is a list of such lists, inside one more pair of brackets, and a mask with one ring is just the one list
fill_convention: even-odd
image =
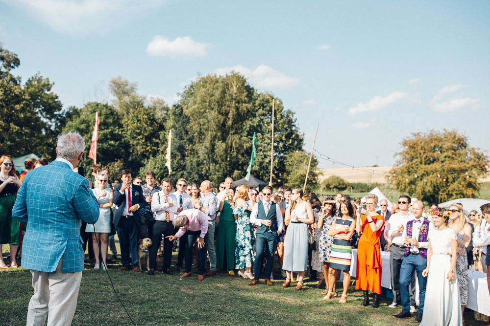
[(297, 78), (289, 77), (267, 65), (259, 65), (255, 70), (235, 65), (233, 67), (218, 68), (213, 73), (224, 76), (231, 71), (236, 71), (245, 76), (256, 87), (266, 89), (290, 89), (301, 81)]

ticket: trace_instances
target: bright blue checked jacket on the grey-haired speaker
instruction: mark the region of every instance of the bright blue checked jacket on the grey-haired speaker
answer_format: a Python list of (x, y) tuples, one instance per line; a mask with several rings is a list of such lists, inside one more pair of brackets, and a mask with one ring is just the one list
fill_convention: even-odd
[(98, 220), (99, 205), (89, 180), (67, 163), (53, 161), (25, 175), (12, 216), (27, 224), (22, 244), (22, 266), (53, 272), (63, 258), (63, 273), (83, 270), (80, 219)]

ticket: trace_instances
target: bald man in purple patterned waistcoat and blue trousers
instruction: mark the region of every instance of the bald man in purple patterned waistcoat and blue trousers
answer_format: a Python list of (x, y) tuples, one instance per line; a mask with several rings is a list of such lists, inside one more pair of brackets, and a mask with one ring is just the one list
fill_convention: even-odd
[(418, 279), (419, 302), (417, 317), (415, 320), (420, 323), (424, 312), (425, 284), (427, 278), (423, 277), (422, 271), (427, 268), (427, 247), (429, 245), (428, 234), (430, 229), (434, 229), (434, 223), (422, 216), (424, 203), (417, 200), (412, 204), (412, 214), (414, 219), (407, 222), (403, 228), (402, 238), (407, 246), (400, 267), (400, 296), (403, 310), (393, 315), (395, 318), (410, 318), (410, 291), (409, 286), (414, 272)]

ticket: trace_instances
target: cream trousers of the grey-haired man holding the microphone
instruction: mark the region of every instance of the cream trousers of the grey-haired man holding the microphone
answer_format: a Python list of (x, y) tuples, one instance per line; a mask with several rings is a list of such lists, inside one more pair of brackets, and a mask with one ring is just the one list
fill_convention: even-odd
[(29, 301), (27, 326), (69, 326), (75, 314), (82, 272), (62, 273), (63, 257), (54, 272), (30, 270), (34, 295)]

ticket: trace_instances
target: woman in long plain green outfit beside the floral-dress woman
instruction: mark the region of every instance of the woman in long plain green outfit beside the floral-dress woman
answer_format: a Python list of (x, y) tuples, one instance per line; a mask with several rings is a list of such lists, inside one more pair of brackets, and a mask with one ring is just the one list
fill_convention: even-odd
[[(230, 275), (235, 275), (235, 237), (237, 223), (233, 210), (235, 191), (233, 188), (226, 190), (220, 202), (220, 222), (218, 223), (218, 235), (216, 237), (216, 267), (227, 269)], [(226, 264), (224, 263), (226, 261)]]

